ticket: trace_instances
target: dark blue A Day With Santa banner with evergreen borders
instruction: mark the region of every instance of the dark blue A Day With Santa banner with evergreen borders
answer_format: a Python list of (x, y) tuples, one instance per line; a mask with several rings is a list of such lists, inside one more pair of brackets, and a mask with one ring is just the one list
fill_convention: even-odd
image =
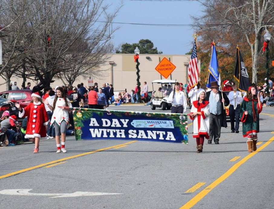
[(188, 144), (187, 114), (70, 108), (76, 140), (142, 140)]

